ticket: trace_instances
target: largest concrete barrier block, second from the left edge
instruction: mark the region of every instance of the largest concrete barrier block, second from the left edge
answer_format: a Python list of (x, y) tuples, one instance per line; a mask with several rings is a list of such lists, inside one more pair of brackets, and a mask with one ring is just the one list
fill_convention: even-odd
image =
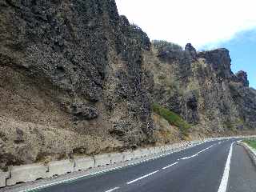
[(7, 178), (6, 185), (13, 186), (19, 182), (33, 182), (39, 178), (47, 178), (47, 166), (42, 164), (30, 164), (26, 166), (13, 166), (10, 169), (10, 178)]

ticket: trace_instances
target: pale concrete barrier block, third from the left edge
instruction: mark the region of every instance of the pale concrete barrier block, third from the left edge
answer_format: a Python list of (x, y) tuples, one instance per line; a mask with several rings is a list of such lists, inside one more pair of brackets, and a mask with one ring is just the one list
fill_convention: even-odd
[(50, 162), (49, 165), (48, 177), (53, 177), (61, 174), (68, 174), (74, 171), (74, 161), (62, 160)]

